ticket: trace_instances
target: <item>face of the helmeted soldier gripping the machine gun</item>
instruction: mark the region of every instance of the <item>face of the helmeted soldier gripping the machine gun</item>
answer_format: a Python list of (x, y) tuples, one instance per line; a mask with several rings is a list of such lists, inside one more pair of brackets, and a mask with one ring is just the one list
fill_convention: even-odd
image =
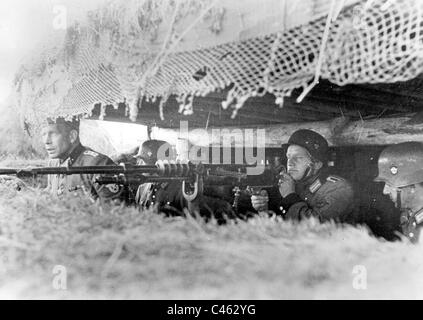
[(286, 152), (288, 174), (295, 180), (301, 180), (312, 160), (308, 151), (300, 146), (291, 145)]

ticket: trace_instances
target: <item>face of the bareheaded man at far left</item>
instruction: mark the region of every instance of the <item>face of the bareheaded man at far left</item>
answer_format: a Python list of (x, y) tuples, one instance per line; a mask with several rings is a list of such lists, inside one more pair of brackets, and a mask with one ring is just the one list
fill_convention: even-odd
[(61, 124), (49, 124), (42, 131), (44, 147), (50, 159), (65, 159), (72, 147), (69, 130)]

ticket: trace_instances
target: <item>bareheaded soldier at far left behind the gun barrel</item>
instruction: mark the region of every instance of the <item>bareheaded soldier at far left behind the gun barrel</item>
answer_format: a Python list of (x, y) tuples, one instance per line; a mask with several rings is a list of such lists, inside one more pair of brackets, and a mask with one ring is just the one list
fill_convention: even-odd
[[(49, 166), (103, 166), (115, 165), (107, 156), (84, 147), (79, 141), (79, 121), (57, 118), (47, 120), (42, 128), (42, 139), (50, 158)], [(49, 175), (48, 190), (55, 195), (65, 192), (84, 192), (93, 199), (117, 199), (121, 187), (116, 184), (99, 185), (93, 174)]]

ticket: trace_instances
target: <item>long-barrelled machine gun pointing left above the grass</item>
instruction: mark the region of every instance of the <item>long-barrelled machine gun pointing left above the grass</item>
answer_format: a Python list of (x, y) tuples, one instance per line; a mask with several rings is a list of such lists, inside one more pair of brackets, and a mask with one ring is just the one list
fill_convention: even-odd
[(240, 192), (255, 194), (263, 188), (277, 185), (278, 175), (283, 166), (267, 167), (261, 175), (248, 175), (246, 169), (254, 165), (194, 164), (192, 162), (157, 161), (155, 165), (130, 165), (84, 167), (40, 167), (0, 168), (0, 175), (16, 175), (18, 178), (38, 175), (95, 174), (98, 184), (140, 185), (147, 182), (181, 181), (182, 193), (186, 200), (194, 201), (204, 191), (204, 184), (229, 185), (235, 192), (233, 207), (237, 207)]

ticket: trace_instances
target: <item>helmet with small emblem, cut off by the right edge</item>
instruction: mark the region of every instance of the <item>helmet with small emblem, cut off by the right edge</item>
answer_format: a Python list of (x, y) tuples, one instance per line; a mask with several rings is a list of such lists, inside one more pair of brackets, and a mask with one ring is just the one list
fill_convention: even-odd
[(423, 143), (403, 142), (385, 148), (379, 156), (375, 182), (401, 188), (423, 182)]

